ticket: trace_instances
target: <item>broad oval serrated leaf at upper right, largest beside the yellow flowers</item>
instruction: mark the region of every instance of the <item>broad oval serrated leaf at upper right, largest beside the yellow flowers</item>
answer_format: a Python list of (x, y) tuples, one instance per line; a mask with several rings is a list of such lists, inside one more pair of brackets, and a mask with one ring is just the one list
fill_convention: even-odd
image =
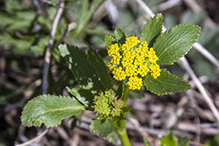
[(159, 64), (173, 64), (185, 55), (197, 42), (201, 28), (193, 24), (182, 24), (157, 37), (153, 45)]

